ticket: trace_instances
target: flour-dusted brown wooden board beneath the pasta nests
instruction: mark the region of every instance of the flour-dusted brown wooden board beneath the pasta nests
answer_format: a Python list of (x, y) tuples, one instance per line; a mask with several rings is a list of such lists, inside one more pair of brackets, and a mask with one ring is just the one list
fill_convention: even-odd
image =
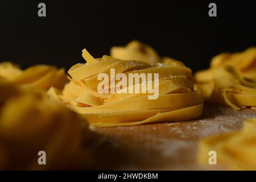
[(209, 135), (239, 130), (256, 110), (234, 111), (228, 106), (205, 104), (201, 118), (175, 123), (96, 129), (108, 142), (101, 147), (97, 169), (197, 170), (197, 142)]

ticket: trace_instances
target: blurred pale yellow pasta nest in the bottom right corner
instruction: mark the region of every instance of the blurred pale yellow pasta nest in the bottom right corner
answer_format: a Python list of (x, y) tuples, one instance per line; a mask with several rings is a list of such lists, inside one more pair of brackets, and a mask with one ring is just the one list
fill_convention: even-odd
[(200, 140), (198, 160), (209, 165), (209, 151), (216, 151), (217, 164), (233, 170), (256, 170), (256, 118), (246, 119), (240, 131)]

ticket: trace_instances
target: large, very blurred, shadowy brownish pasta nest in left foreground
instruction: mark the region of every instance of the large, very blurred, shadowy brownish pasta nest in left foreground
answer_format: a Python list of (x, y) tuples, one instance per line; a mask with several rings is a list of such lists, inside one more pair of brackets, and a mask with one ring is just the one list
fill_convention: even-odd
[[(45, 90), (0, 78), (0, 169), (75, 166), (82, 135), (89, 135), (81, 121), (73, 111), (49, 100)], [(46, 152), (47, 165), (38, 164), (39, 151)]]

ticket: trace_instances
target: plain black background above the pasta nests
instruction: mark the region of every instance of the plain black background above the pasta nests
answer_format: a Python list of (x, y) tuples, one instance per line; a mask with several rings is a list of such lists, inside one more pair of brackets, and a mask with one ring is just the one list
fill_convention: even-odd
[[(47, 17), (38, 17), (38, 3)], [(217, 17), (208, 16), (210, 2)], [(138, 39), (193, 71), (222, 51), (256, 46), (254, 1), (0, 1), (0, 61), (69, 68)]]

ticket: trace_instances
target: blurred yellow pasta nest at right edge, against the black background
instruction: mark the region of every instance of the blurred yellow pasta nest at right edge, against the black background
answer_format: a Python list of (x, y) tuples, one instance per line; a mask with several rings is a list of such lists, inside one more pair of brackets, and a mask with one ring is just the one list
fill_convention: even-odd
[(256, 48), (213, 57), (210, 68), (195, 74), (195, 89), (204, 100), (231, 106), (256, 106)]

